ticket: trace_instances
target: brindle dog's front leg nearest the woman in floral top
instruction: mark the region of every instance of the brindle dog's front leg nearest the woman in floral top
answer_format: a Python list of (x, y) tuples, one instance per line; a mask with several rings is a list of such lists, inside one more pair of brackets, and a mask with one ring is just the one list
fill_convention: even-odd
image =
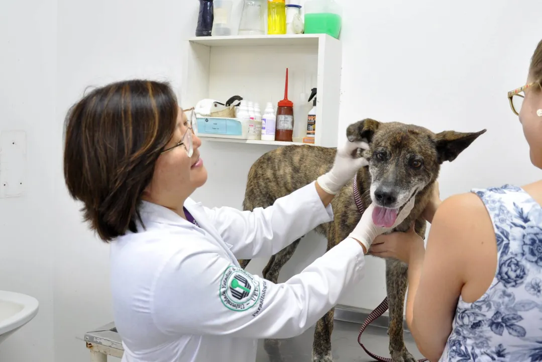
[(386, 291), (390, 307), (390, 354), (393, 362), (416, 362), (406, 350), (403, 339), (403, 312), (408, 285), (408, 265), (386, 259)]

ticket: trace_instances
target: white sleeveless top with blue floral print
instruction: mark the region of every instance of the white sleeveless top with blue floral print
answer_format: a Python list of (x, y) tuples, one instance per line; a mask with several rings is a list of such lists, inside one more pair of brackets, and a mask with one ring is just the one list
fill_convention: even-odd
[(473, 192), (493, 222), (498, 266), (478, 301), (460, 297), (440, 361), (542, 361), (542, 207), (516, 186)]

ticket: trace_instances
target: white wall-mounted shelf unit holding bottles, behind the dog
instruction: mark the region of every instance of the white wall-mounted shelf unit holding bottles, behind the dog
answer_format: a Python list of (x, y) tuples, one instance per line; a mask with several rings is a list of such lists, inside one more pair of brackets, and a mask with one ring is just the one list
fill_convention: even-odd
[[(311, 88), (317, 90), (314, 145), (337, 147), (341, 84), (341, 42), (327, 34), (207, 36), (185, 42), (181, 103), (192, 107), (205, 98), (222, 102), (233, 96), (268, 101), (276, 111), (284, 98), (286, 68), (288, 99), (294, 103), (294, 130), (303, 137)], [(300, 99), (304, 93), (305, 99)], [(287, 145), (299, 142), (256, 141), (205, 137), (205, 141)]]

